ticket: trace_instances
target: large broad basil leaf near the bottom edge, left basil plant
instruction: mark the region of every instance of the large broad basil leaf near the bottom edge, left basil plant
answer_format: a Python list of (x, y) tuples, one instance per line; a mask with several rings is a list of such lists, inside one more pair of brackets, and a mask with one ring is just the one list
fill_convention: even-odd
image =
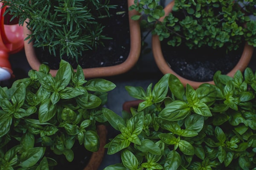
[(35, 165), (41, 157), (44, 155), (43, 147), (34, 147), (29, 150), (25, 150), (20, 155), (20, 166), (21, 167), (32, 167)]

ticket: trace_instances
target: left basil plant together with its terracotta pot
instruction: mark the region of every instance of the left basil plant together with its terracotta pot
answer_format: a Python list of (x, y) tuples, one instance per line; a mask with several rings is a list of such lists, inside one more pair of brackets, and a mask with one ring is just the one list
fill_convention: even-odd
[(113, 88), (84, 80), (81, 66), (74, 72), (64, 60), (56, 77), (41, 65), (0, 87), (0, 169), (97, 170), (107, 134), (102, 107)]

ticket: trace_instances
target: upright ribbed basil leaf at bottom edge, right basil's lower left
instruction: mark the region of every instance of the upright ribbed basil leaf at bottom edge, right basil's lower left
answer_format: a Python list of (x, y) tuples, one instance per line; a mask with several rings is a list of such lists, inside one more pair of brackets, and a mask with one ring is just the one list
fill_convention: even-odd
[(137, 170), (139, 162), (131, 151), (127, 149), (123, 150), (121, 153), (121, 159), (123, 165), (129, 170)]

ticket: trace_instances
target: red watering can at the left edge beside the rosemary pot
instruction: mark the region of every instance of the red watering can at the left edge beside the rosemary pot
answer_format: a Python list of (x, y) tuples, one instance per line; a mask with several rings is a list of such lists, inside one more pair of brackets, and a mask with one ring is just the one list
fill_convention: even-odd
[(0, 3), (0, 81), (13, 77), (9, 54), (15, 54), (24, 47), (23, 27), (17, 20), (10, 22), (11, 15), (3, 16), (6, 8)]

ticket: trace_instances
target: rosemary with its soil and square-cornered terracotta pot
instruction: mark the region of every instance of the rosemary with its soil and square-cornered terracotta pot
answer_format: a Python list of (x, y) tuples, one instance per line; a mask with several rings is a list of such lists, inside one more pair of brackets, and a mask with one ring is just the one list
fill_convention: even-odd
[[(20, 17), (20, 24), (24, 23), (24, 48), (32, 69), (38, 70), (41, 62), (49, 65), (52, 59), (57, 63), (64, 59), (72, 65), (86, 64), (87, 78), (105, 77), (128, 71), (139, 58), (140, 25), (130, 20), (137, 11), (128, 11), (127, 7), (132, 0), (1, 2)], [(45, 61), (48, 55), (51, 60)], [(114, 60), (105, 64), (111, 57)], [(58, 68), (52, 67), (50, 73), (55, 75)]]

